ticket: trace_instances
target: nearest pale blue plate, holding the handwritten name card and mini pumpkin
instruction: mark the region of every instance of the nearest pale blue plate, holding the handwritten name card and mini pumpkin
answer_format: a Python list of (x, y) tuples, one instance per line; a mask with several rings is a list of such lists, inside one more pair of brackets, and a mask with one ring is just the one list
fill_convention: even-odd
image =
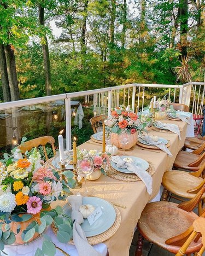
[[(103, 213), (92, 225), (89, 224), (87, 219), (84, 219), (84, 223), (80, 224), (86, 237), (102, 234), (114, 224), (116, 213), (114, 207), (109, 202), (98, 197), (83, 197), (83, 205), (93, 205), (95, 208), (99, 206)], [(71, 211), (71, 206), (68, 203), (63, 206), (63, 213), (71, 216)]]

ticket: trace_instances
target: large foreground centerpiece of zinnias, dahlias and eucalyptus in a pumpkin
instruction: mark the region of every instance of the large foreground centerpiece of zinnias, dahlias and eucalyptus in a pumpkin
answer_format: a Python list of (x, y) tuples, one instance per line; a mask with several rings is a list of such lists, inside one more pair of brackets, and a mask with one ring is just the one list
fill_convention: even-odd
[(60, 242), (67, 243), (72, 237), (71, 218), (60, 206), (51, 210), (50, 203), (65, 199), (62, 191), (75, 186), (73, 174), (65, 171), (67, 182), (61, 180), (57, 171), (42, 166), (36, 148), (27, 158), (15, 158), (18, 154), (14, 149), (0, 162), (0, 250), (3, 252), (4, 245), (19, 245), (42, 236), (42, 249), (37, 248), (36, 254), (55, 255), (55, 245), (43, 231), (54, 223)]

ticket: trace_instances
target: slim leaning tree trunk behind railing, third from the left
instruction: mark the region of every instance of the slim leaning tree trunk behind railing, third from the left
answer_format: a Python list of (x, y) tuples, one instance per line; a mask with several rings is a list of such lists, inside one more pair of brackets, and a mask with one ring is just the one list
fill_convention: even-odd
[[(38, 7), (38, 19), (40, 25), (45, 25), (45, 11), (44, 7), (39, 4)], [(50, 58), (49, 58), (49, 47), (48, 40), (46, 36), (43, 38), (44, 43), (42, 44), (43, 50), (43, 65), (44, 65), (44, 73), (45, 73), (45, 93), (46, 95), (51, 95), (51, 72), (50, 72)]]

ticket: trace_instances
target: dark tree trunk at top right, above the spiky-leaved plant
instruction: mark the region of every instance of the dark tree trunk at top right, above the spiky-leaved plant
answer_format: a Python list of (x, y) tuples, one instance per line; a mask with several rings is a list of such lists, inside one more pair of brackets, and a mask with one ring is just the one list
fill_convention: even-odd
[(187, 56), (188, 0), (180, 0), (180, 46), (181, 57)]

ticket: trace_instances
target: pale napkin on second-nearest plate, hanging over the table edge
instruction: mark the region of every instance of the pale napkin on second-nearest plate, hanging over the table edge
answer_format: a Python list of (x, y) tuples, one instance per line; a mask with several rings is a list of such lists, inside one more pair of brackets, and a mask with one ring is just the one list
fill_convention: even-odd
[(137, 176), (141, 179), (141, 181), (144, 182), (147, 188), (148, 194), (151, 195), (151, 193), (153, 192), (153, 188), (152, 188), (153, 178), (150, 176), (150, 174), (147, 171), (143, 170), (142, 168), (136, 165), (132, 165), (122, 160), (119, 155), (112, 156), (111, 160), (115, 162), (116, 167), (118, 167), (119, 169), (127, 168), (128, 171), (132, 171), (135, 174), (137, 174)]

